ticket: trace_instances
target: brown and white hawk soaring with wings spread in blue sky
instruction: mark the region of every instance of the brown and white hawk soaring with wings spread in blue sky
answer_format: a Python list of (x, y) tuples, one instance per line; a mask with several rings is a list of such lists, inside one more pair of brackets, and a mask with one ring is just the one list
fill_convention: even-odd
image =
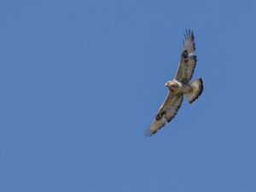
[(190, 81), (195, 70), (195, 65), (194, 33), (186, 30), (183, 40), (183, 52), (180, 55), (176, 76), (173, 80), (166, 82), (169, 93), (166, 96), (165, 102), (155, 115), (152, 125), (145, 132), (146, 137), (154, 135), (175, 117), (177, 110), (183, 102), (183, 96), (188, 99), (189, 103), (192, 103), (201, 95), (204, 88), (203, 80), (200, 78), (193, 82)]

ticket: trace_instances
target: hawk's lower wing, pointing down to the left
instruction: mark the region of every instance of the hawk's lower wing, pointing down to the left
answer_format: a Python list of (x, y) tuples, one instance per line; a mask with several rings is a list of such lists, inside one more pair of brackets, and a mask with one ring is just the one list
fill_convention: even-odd
[(158, 130), (160, 130), (160, 128), (166, 125), (167, 122), (169, 123), (177, 114), (177, 110), (180, 108), (182, 102), (182, 94), (169, 92), (168, 96), (166, 97), (166, 101), (156, 114), (153, 124), (150, 126), (149, 130), (145, 132), (145, 136), (152, 136)]

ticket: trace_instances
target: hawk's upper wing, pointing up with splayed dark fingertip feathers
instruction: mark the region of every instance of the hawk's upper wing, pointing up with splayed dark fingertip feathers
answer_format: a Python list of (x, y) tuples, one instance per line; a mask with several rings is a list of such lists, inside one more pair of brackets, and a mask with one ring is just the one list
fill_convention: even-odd
[(179, 66), (175, 79), (180, 82), (189, 82), (195, 70), (195, 38), (194, 33), (186, 30), (184, 34), (184, 48), (180, 56)]

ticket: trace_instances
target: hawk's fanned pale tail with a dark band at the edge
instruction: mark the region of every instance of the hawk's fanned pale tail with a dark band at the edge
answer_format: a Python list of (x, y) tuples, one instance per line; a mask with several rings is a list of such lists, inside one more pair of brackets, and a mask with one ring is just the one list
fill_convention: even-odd
[(195, 100), (201, 95), (204, 84), (202, 79), (196, 79), (194, 82), (190, 83), (192, 90), (189, 93), (186, 93), (189, 103), (195, 102)]

